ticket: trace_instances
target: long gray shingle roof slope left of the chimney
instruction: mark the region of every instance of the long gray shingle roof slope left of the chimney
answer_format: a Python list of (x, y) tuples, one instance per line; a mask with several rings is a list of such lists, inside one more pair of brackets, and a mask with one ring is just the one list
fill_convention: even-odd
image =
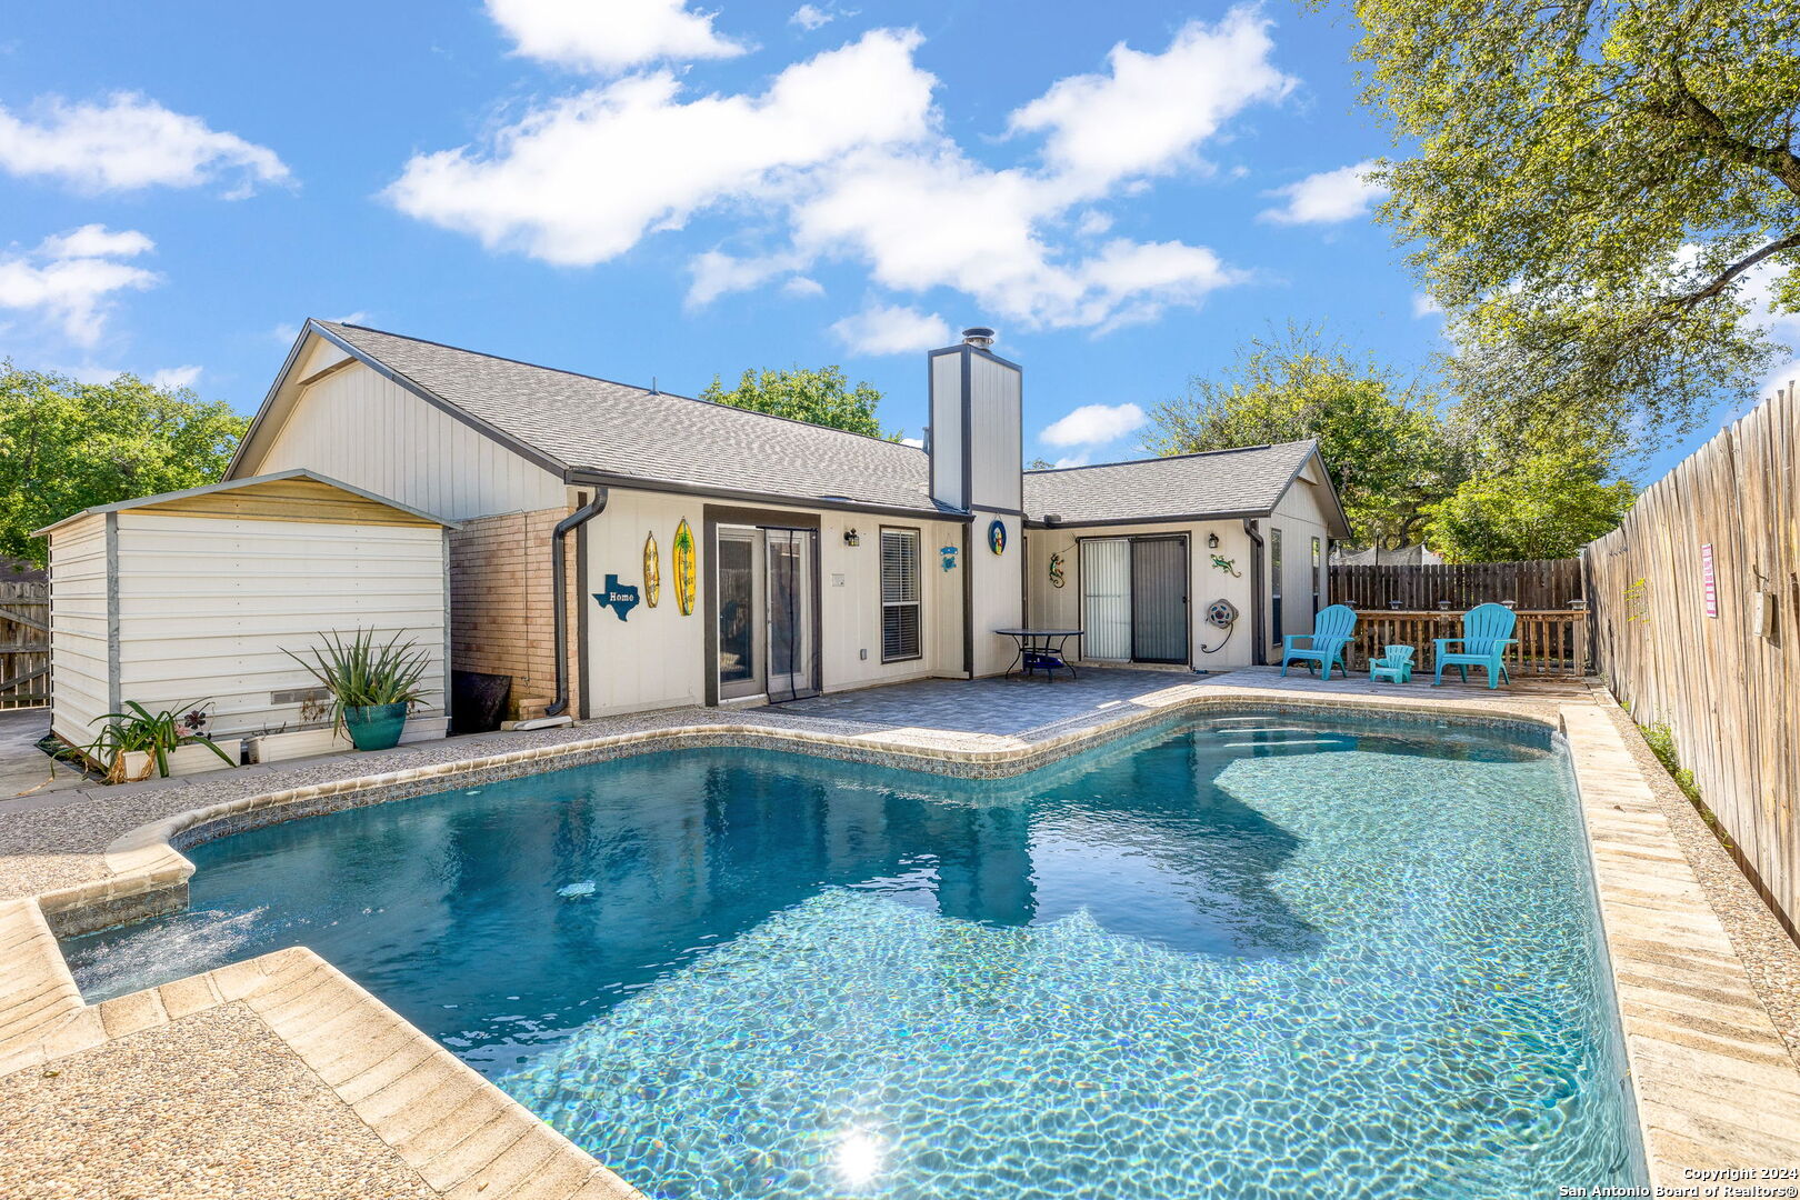
[(709, 489), (940, 511), (916, 446), (317, 322), (448, 405), (554, 459)]

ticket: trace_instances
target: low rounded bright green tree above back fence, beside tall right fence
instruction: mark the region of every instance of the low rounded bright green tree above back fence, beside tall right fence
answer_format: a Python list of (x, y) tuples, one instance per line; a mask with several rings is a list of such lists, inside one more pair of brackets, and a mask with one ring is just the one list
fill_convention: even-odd
[(1453, 563), (1570, 558), (1625, 520), (1636, 489), (1593, 455), (1532, 453), (1426, 507), (1426, 542)]

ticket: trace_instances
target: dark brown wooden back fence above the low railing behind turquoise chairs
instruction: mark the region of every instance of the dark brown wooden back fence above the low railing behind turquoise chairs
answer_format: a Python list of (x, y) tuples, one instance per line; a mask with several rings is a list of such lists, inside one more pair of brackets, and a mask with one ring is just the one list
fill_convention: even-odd
[(1429, 567), (1332, 567), (1332, 601), (1355, 610), (1424, 612), (1447, 603), (1463, 612), (1487, 601), (1512, 601), (1519, 610), (1564, 612), (1582, 599), (1579, 558), (1532, 558), (1517, 563), (1433, 563)]

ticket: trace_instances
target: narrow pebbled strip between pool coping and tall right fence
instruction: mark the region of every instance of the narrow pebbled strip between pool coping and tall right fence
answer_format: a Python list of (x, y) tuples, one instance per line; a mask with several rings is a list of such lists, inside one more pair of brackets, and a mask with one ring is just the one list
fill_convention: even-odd
[(1732, 853), (1719, 844), (1712, 826), (1663, 770), (1631, 716), (1604, 691), (1597, 689), (1595, 700), (1618, 727), (1625, 748), (1638, 759), (1638, 770), (1663, 806), (1681, 853), (1699, 876), (1706, 901), (1719, 914), (1737, 957), (1744, 961), (1750, 986), (1775, 1022), (1775, 1031), (1782, 1034), (1787, 1054), (1800, 1065), (1800, 946), (1757, 896), (1757, 889), (1744, 878)]

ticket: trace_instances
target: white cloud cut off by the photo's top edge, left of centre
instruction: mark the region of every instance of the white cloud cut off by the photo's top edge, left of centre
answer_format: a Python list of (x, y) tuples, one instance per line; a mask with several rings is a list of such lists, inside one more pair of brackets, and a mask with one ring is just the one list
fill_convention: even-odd
[(518, 52), (612, 74), (664, 59), (733, 58), (747, 47), (684, 0), (488, 0), (488, 16)]

